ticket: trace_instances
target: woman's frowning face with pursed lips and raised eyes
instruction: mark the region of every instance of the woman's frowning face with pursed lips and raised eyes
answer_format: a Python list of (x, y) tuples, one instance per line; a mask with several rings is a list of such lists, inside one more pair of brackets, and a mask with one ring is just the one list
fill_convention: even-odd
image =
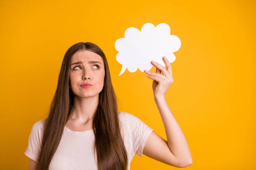
[[(88, 50), (78, 50), (74, 53), (70, 68), (70, 85), (74, 95), (91, 97), (98, 95), (104, 85), (105, 69), (100, 55)], [(82, 87), (90, 83), (90, 87)]]

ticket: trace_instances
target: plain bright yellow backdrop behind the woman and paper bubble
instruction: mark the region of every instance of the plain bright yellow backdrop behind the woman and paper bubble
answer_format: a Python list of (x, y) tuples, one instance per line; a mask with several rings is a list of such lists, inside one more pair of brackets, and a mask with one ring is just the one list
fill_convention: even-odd
[[(105, 52), (119, 110), (166, 139), (153, 80), (140, 70), (118, 77), (115, 40), (145, 23), (167, 23), (182, 42), (166, 100), (192, 153), (187, 169), (255, 169), (255, 10), (253, 0), (1, 0), (1, 169), (28, 169), (32, 125), (48, 114), (64, 54), (77, 42)], [(136, 169), (178, 168), (135, 155)]]

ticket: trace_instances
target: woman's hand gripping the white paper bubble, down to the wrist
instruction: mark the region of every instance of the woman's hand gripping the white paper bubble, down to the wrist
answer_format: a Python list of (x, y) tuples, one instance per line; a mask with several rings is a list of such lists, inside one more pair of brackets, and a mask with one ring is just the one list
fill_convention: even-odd
[[(165, 56), (163, 57), (163, 59), (165, 65), (167, 66), (167, 70), (165, 67), (155, 61), (151, 61), (151, 63), (156, 67), (156, 72), (150, 72), (148, 70), (145, 70), (147, 77), (154, 80), (152, 85), (154, 97), (165, 97), (166, 91), (173, 82), (171, 64)], [(161, 72), (164, 75), (162, 75)]]

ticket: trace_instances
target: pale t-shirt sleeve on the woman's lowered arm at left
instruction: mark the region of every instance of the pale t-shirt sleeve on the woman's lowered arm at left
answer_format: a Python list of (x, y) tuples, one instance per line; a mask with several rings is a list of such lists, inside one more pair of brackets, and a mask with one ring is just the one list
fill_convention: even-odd
[(39, 123), (40, 120), (33, 125), (28, 138), (28, 147), (25, 151), (25, 155), (28, 158), (35, 160), (36, 162), (38, 162), (39, 154), (41, 151), (42, 130)]

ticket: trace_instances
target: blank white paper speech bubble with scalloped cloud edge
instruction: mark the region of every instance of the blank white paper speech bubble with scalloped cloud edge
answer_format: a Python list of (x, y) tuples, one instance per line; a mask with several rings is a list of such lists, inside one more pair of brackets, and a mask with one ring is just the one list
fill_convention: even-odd
[[(116, 60), (122, 65), (121, 72), (126, 68), (129, 72), (136, 70), (150, 70), (154, 65), (154, 60), (165, 67), (162, 57), (166, 57), (169, 62), (176, 59), (173, 52), (179, 50), (181, 41), (176, 35), (170, 35), (170, 27), (166, 23), (156, 25), (146, 23), (141, 31), (130, 27), (125, 30), (125, 38), (115, 41), (115, 49), (118, 51)], [(154, 66), (155, 67), (155, 66)]]

